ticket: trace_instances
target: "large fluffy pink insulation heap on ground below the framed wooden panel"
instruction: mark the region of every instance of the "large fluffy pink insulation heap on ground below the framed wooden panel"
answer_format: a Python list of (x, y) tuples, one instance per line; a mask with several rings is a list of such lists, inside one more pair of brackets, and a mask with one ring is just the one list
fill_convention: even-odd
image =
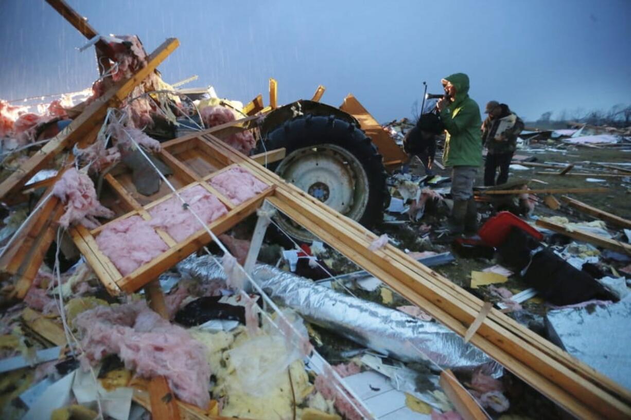
[(81, 363), (117, 354), (143, 378), (165, 376), (177, 398), (206, 409), (210, 368), (206, 349), (182, 327), (150, 310), (144, 301), (98, 306), (75, 321), (81, 332)]

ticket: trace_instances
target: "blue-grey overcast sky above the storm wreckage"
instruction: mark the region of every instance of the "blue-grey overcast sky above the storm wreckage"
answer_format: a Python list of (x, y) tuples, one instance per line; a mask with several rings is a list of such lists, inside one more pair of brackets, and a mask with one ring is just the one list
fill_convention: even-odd
[[(424, 80), (438, 93), (441, 78), (464, 72), (481, 108), (498, 100), (526, 119), (631, 103), (629, 0), (67, 1), (97, 31), (139, 35), (148, 52), (179, 38), (165, 81), (198, 74), (186, 87), (244, 102), (267, 98), (274, 77), (280, 103), (322, 84), (322, 102), (352, 92), (385, 122), (411, 114)], [(0, 98), (90, 86), (83, 44), (44, 0), (0, 0)]]

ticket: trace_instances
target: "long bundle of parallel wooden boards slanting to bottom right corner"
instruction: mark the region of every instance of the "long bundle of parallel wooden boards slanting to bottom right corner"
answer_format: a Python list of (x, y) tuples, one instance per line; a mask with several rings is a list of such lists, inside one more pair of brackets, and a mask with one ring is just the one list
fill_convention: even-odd
[[(331, 211), (256, 163), (248, 164), (244, 155), (218, 139), (212, 136), (204, 138), (220, 153), (248, 165), (262, 178), (275, 184), (276, 195), (269, 199), (274, 206), (303, 226), (310, 227), (322, 240), (423, 307), (447, 327), (463, 335), (466, 330), (464, 325), (473, 322), (480, 311), (480, 300), (394, 247), (388, 245), (384, 250), (367, 252), (370, 242), (376, 238), (373, 233)], [(473, 303), (469, 305), (468, 302)], [(473, 307), (476, 302), (477, 310)], [(625, 418), (631, 415), (628, 390), (589, 366), (580, 362), (577, 366), (572, 365), (575, 358), (550, 343), (537, 341), (532, 332), (497, 310), (492, 310), (471, 342), (579, 417)]]

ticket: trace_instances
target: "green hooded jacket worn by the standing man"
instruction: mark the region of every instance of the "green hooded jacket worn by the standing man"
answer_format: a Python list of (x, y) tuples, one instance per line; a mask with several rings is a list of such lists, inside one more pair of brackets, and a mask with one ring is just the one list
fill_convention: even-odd
[(480, 108), (469, 98), (469, 76), (456, 73), (444, 80), (456, 88), (456, 100), (440, 112), (447, 130), (442, 161), (445, 166), (482, 165)]

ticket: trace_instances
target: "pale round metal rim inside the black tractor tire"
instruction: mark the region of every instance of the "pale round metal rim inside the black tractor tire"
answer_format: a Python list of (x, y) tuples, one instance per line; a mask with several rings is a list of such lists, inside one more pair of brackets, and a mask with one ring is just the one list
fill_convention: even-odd
[[(278, 165), (276, 173), (348, 218), (359, 219), (368, 204), (369, 182), (362, 164), (335, 144), (297, 149)], [(278, 223), (295, 238), (314, 238), (287, 218), (279, 218)]]

